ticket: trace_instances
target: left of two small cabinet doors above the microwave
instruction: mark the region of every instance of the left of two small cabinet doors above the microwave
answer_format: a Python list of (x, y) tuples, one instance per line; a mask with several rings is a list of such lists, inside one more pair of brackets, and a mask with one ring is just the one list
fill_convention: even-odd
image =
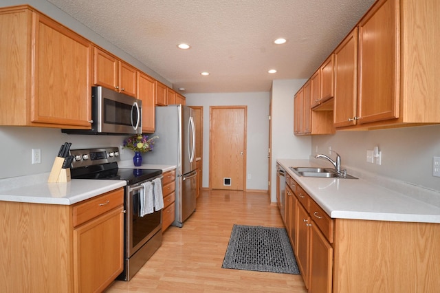
[(94, 47), (94, 85), (118, 89), (118, 58)]

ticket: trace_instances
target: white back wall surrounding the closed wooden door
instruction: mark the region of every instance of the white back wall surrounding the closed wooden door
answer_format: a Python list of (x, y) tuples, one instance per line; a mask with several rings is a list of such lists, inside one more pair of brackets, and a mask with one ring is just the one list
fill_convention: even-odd
[(203, 187), (209, 186), (209, 108), (248, 106), (246, 188), (267, 190), (267, 148), (269, 146), (269, 93), (186, 94), (186, 105), (203, 106)]

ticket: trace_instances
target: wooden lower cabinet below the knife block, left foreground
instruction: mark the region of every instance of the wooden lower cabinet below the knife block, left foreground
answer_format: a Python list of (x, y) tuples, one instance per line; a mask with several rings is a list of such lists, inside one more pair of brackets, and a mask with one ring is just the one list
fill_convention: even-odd
[(123, 268), (124, 190), (72, 206), (0, 202), (0, 292), (102, 292)]

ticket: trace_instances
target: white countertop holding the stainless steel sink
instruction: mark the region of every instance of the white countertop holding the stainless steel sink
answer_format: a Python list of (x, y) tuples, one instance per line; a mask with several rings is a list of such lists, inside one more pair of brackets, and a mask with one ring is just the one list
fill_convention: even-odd
[(359, 179), (301, 177), (289, 166), (323, 165), (309, 160), (279, 159), (276, 162), (332, 218), (440, 223), (440, 193), (436, 191), (405, 185), (405, 182), (397, 186), (395, 180), (390, 180), (388, 186), (378, 185), (350, 171), (350, 175)]

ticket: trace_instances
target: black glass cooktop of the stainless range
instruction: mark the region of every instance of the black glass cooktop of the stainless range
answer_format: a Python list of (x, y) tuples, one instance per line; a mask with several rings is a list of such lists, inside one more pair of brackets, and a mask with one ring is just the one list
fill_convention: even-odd
[(125, 180), (129, 185), (160, 174), (162, 174), (161, 169), (119, 169), (115, 162), (71, 169), (73, 179)]

